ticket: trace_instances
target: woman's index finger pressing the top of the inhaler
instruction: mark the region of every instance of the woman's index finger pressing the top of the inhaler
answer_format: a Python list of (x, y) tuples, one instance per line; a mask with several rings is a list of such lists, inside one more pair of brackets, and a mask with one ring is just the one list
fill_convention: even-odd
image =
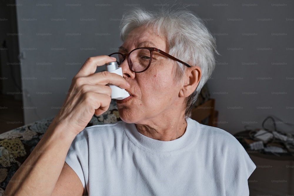
[(86, 60), (75, 77), (90, 76), (95, 73), (98, 66), (103, 66), (105, 63), (114, 61), (116, 61), (116, 58), (107, 55), (90, 57)]

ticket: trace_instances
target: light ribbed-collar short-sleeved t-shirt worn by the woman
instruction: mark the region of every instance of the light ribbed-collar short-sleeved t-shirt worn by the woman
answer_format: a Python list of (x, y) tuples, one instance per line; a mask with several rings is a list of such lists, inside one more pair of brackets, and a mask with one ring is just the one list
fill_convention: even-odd
[(172, 141), (119, 121), (85, 128), (66, 163), (89, 195), (249, 195), (256, 166), (230, 133), (187, 119)]

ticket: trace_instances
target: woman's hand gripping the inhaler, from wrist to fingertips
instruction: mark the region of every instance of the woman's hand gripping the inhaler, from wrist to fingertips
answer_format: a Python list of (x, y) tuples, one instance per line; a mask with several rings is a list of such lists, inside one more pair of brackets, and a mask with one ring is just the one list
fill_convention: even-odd
[(83, 130), (94, 113), (101, 115), (108, 110), (111, 88), (106, 84), (113, 84), (123, 89), (129, 88), (127, 81), (116, 73), (108, 71), (95, 73), (97, 66), (113, 61), (116, 59), (106, 55), (90, 57), (73, 78), (62, 107), (64, 109), (58, 113), (58, 119), (68, 123), (73, 133), (78, 134)]

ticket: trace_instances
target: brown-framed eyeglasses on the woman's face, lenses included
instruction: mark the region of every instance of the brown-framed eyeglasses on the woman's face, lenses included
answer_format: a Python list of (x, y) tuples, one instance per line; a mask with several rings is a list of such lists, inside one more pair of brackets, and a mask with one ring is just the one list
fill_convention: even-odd
[(125, 60), (125, 58), (128, 56), (128, 66), (129, 66), (130, 70), (133, 72), (136, 72), (136, 73), (141, 73), (143, 71), (146, 71), (149, 68), (154, 51), (156, 51), (164, 56), (167, 56), (168, 58), (171, 58), (175, 61), (183, 63), (187, 67), (191, 67), (187, 63), (177, 59), (176, 57), (169, 55), (166, 52), (159, 50), (158, 48), (136, 48), (136, 49), (133, 49), (128, 54), (122, 54), (119, 52), (115, 52), (115, 53), (112, 53), (108, 56), (115, 57), (118, 65), (120, 65)]

